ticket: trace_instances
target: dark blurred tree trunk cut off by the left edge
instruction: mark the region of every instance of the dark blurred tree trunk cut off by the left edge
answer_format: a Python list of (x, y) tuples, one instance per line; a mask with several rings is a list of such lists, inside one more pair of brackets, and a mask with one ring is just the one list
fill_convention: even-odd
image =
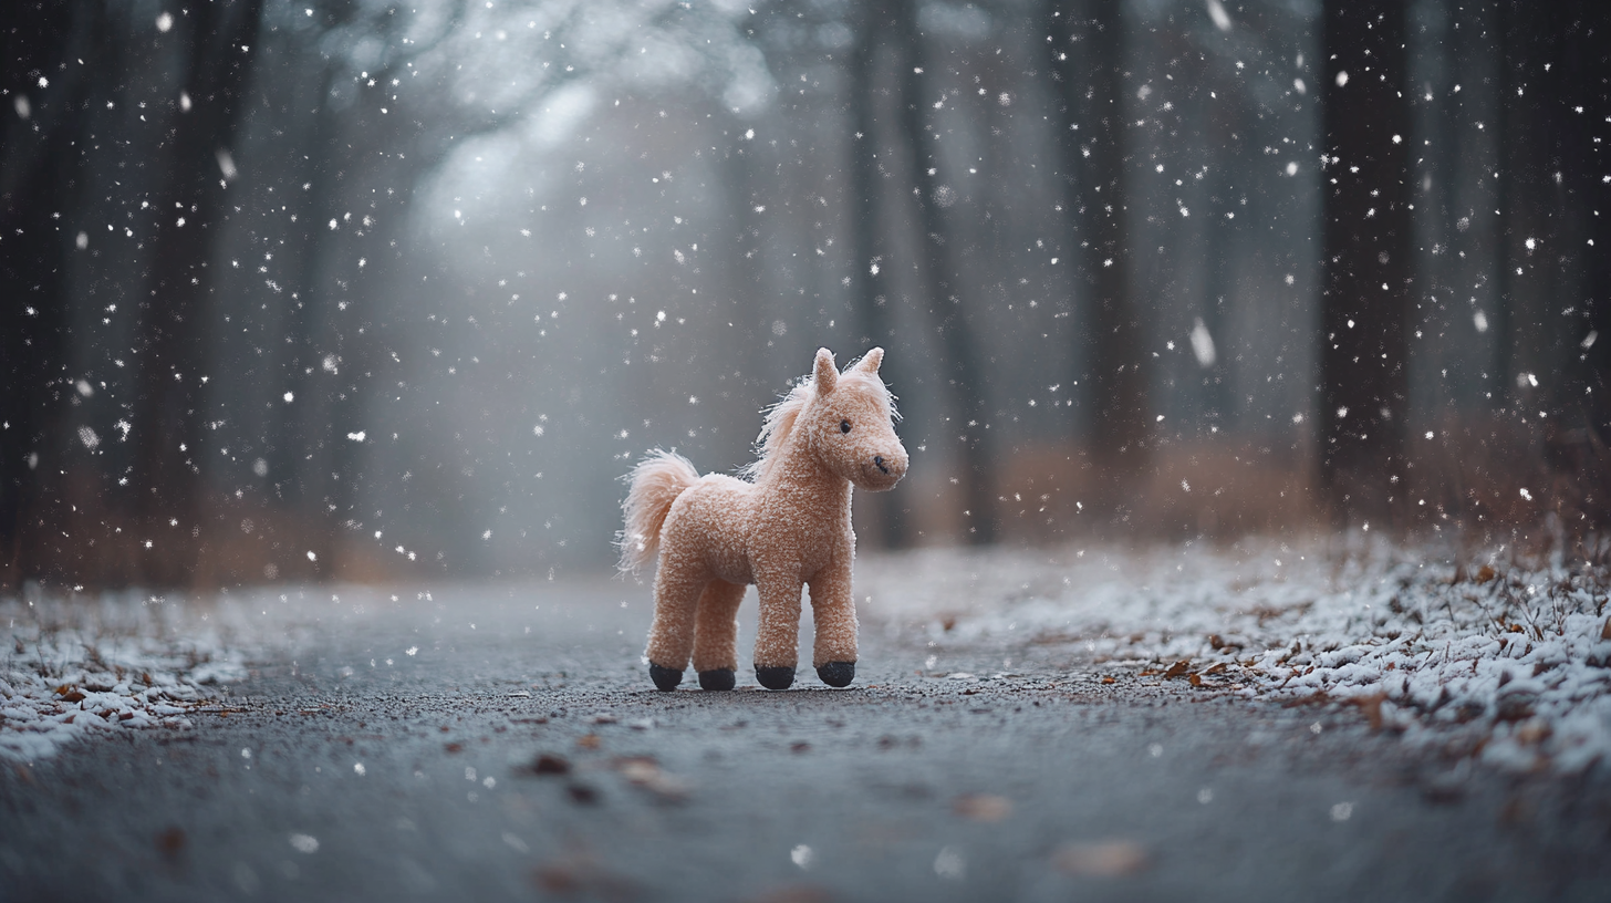
[[(0, 13), (0, 592), (66, 577), (74, 442), (69, 271), (87, 192), (90, 95), (122, 68), (100, 3), (14, 3)], [(97, 68), (61, 66), (93, 58)]]

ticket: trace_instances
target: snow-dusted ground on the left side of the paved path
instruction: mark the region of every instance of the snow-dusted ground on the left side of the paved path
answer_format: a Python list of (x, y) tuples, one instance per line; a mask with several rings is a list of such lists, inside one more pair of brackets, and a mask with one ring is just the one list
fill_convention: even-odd
[(142, 727), (188, 729), (245, 676), (216, 610), (110, 593), (0, 600), (0, 759)]

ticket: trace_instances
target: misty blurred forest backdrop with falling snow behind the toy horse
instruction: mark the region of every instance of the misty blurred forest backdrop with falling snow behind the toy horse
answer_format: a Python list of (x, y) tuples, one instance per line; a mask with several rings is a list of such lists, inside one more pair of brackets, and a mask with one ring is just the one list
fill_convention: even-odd
[(1603, 529), (1608, 26), (6, 3), (0, 592), (603, 571), (818, 345), (905, 416), (863, 547)]

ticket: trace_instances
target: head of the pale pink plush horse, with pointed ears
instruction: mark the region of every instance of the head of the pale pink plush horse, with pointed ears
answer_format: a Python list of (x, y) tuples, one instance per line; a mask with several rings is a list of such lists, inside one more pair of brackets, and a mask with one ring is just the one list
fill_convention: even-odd
[(833, 366), (833, 352), (818, 348), (812, 376), (815, 397), (801, 411), (796, 426), (806, 429), (806, 442), (817, 460), (870, 492), (894, 489), (907, 469), (889, 390), (878, 376), (883, 360), (884, 350), (873, 348), (839, 372)]

